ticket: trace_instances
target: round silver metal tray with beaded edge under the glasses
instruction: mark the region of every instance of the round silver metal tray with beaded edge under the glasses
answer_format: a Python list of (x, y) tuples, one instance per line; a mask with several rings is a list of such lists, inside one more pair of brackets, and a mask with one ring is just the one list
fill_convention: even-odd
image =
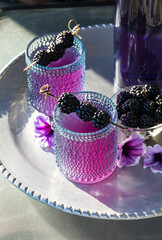
[[(113, 94), (113, 28), (82, 28), (86, 50), (87, 90)], [(162, 215), (162, 175), (135, 167), (116, 168), (96, 184), (67, 180), (53, 152), (40, 148), (34, 137), (38, 112), (28, 101), (24, 52), (0, 74), (0, 171), (33, 199), (70, 214), (129, 220)]]

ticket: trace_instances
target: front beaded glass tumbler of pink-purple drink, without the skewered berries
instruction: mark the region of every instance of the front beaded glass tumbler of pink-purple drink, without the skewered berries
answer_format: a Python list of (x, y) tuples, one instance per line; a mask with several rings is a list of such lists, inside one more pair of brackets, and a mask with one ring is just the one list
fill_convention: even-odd
[[(106, 96), (95, 92), (80, 92), (75, 96), (82, 102), (90, 102), (95, 105), (98, 110), (105, 110), (111, 115), (111, 121), (117, 123), (115, 105)], [(84, 128), (84, 124), (90, 131), (81, 130), (80, 125), (83, 125)], [(76, 113), (63, 114), (57, 106), (54, 110), (57, 166), (66, 178), (73, 182), (102, 181), (110, 176), (116, 167), (117, 128), (109, 124), (101, 130), (93, 131), (93, 125), (91, 127), (90, 124), (92, 122), (84, 122), (79, 119)], [(73, 131), (74, 129), (75, 131)]]

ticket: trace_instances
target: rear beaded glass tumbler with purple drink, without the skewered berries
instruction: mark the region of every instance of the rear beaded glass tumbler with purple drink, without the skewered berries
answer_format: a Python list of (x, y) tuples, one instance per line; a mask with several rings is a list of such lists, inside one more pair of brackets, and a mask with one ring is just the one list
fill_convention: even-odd
[[(46, 34), (33, 39), (26, 49), (26, 65), (33, 62), (35, 53), (47, 50), (51, 42), (55, 42), (55, 34)], [(29, 100), (39, 112), (52, 117), (57, 103), (54, 98), (44, 99), (39, 93), (40, 88), (48, 84), (51, 94), (60, 97), (63, 92), (78, 92), (85, 90), (85, 50), (83, 43), (74, 37), (71, 48), (65, 50), (64, 56), (47, 67), (35, 64), (27, 70)]]

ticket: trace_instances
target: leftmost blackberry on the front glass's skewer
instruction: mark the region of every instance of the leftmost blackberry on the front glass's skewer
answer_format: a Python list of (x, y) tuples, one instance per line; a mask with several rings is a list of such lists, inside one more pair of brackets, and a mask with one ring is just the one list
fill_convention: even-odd
[(79, 105), (79, 100), (69, 92), (63, 93), (58, 99), (58, 107), (63, 113), (75, 112), (77, 106)]

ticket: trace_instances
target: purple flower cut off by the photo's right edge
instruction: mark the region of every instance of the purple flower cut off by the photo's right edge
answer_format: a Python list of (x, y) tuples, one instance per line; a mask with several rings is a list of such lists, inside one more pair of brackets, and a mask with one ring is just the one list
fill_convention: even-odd
[(150, 167), (154, 173), (162, 173), (162, 147), (159, 144), (148, 146), (144, 155), (144, 168)]

